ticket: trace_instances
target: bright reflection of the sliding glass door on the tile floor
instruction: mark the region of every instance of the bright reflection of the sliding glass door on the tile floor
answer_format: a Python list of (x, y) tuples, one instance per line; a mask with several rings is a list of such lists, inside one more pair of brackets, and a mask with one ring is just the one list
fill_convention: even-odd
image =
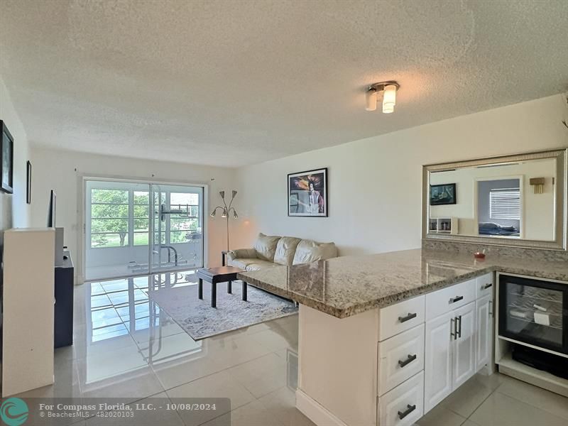
[(195, 281), (195, 271), (184, 271), (86, 283), (84, 338), (87, 356), (92, 358), (85, 366), (86, 383), (119, 373), (104, 368), (104, 348), (122, 348), (121, 372), (202, 356), (202, 342), (193, 341), (148, 298), (148, 288), (195, 285)]

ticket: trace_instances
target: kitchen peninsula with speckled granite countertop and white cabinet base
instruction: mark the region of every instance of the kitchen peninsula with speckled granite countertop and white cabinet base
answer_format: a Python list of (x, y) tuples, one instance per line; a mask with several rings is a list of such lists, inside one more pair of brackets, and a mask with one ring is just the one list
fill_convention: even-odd
[(492, 371), (496, 272), (568, 282), (562, 254), (534, 252), (478, 260), (416, 249), (238, 278), (300, 303), (296, 404), (312, 421), (410, 425), (477, 371)]

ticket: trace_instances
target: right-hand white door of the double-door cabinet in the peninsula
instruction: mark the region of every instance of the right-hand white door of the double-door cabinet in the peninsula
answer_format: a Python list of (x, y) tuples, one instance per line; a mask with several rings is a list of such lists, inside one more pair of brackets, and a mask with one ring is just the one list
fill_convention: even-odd
[(454, 340), (452, 390), (457, 389), (475, 374), (475, 303), (469, 303), (452, 312), (455, 317), (457, 339)]

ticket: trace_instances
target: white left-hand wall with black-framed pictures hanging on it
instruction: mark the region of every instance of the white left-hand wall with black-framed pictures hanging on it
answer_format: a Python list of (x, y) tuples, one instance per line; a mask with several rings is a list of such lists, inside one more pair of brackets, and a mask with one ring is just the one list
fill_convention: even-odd
[(30, 208), (26, 204), (26, 161), (29, 159), (28, 137), (13, 109), (4, 80), (0, 77), (0, 119), (13, 137), (13, 194), (0, 191), (0, 246), (2, 234), (9, 228), (29, 226)]

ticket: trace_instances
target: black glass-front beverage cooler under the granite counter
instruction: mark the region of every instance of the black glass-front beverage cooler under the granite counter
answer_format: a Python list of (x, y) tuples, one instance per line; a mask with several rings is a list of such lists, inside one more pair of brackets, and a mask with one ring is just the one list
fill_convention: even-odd
[(500, 275), (499, 335), (568, 354), (568, 285)]

